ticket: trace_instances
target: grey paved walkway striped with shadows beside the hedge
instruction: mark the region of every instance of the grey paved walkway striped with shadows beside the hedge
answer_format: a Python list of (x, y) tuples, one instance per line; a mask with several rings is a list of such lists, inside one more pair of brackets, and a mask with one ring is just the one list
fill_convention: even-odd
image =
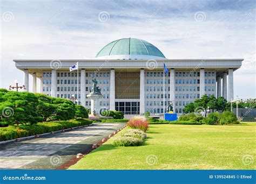
[(0, 145), (0, 169), (55, 169), (84, 153), (124, 124), (99, 123), (40, 138)]

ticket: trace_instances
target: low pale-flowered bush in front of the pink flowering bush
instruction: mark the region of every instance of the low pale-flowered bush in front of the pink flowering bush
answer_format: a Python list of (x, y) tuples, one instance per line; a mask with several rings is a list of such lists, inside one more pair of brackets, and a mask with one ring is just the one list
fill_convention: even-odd
[(136, 137), (116, 137), (113, 140), (114, 146), (141, 146), (143, 145), (143, 139)]

